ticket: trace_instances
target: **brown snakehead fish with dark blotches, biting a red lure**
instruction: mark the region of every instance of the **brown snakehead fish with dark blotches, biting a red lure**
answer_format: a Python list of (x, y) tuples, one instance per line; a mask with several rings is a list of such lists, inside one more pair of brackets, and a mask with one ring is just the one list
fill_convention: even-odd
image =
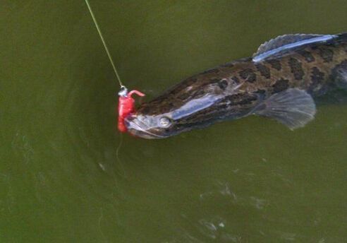
[(294, 130), (315, 119), (319, 97), (347, 89), (347, 32), (280, 35), (252, 57), (209, 69), (145, 102), (125, 119), (128, 133), (167, 138), (251, 115)]

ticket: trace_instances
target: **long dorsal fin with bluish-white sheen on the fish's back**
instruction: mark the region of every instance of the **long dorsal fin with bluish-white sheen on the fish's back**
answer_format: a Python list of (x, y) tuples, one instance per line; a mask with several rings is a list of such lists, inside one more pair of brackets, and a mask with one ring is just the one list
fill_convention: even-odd
[(253, 61), (262, 61), (267, 57), (274, 56), (288, 49), (308, 45), (316, 42), (326, 42), (337, 37), (337, 35), (280, 35), (272, 40), (260, 45), (257, 52), (253, 55)]

